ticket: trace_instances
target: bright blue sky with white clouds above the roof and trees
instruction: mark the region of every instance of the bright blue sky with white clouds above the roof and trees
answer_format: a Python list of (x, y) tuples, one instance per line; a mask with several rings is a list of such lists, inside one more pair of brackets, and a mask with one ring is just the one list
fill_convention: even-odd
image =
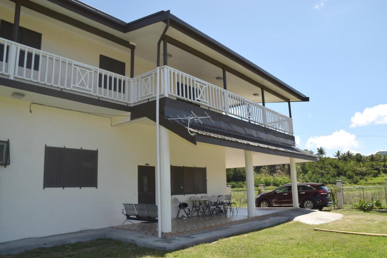
[(365, 137), (387, 136), (387, 1), (84, 1), (127, 22), (171, 10), (309, 96), (292, 103), (300, 148), (387, 150)]

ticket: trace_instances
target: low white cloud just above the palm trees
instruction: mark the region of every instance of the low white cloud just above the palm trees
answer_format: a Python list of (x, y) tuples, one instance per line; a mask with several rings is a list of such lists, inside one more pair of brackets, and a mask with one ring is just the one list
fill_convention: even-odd
[(347, 151), (351, 150), (351, 148), (357, 148), (359, 141), (356, 139), (356, 135), (341, 129), (331, 135), (312, 136), (308, 139), (307, 144), (305, 144), (308, 150), (315, 150), (315, 148), (320, 146), (327, 150)]

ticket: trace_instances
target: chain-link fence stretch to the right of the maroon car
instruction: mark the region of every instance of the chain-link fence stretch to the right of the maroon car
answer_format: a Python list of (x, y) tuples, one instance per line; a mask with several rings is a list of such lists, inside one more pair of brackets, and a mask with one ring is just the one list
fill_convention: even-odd
[(344, 206), (352, 206), (354, 203), (358, 203), (359, 199), (365, 201), (379, 200), (382, 205), (387, 205), (386, 186), (342, 187), (341, 194)]

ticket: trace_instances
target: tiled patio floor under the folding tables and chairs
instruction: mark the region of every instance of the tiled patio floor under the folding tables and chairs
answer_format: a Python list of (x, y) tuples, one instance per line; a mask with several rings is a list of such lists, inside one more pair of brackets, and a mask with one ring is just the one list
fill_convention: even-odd
[[(182, 236), (187, 234), (194, 234), (204, 232), (213, 229), (219, 229), (221, 227), (228, 227), (231, 225), (241, 224), (245, 222), (251, 222), (254, 220), (260, 220), (268, 218), (274, 215), (276, 212), (281, 212), (284, 209), (289, 208), (255, 208), (255, 217), (247, 217), (247, 208), (238, 208), (238, 213), (234, 215), (213, 215), (213, 216), (196, 216), (187, 218), (185, 220), (172, 220), (172, 232), (166, 234), (165, 237)], [(150, 222), (140, 222), (123, 226), (114, 226), (117, 229), (132, 230), (136, 232), (142, 232), (146, 234), (156, 235), (158, 224)]]

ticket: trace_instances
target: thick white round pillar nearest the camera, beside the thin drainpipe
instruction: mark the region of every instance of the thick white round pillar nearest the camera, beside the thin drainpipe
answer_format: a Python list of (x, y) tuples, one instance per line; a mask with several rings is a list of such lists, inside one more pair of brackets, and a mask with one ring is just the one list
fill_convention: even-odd
[(171, 162), (168, 130), (160, 126), (161, 232), (171, 232)]

